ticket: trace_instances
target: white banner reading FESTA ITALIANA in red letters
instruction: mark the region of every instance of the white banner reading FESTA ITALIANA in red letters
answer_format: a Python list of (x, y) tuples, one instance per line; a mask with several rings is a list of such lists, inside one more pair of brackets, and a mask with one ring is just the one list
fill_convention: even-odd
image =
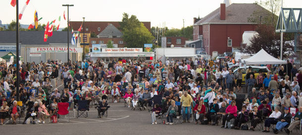
[[(30, 53), (67, 53), (67, 47), (30, 48)], [(83, 53), (83, 48), (69, 48), (69, 53)]]

